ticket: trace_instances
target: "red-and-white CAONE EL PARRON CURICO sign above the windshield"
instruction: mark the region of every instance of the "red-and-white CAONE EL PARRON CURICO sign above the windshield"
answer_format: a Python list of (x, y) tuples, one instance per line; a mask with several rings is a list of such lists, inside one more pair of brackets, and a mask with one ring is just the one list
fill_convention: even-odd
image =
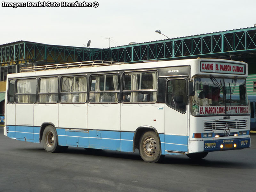
[(207, 73), (245, 74), (245, 65), (243, 64), (201, 61), (200, 69), (201, 72)]

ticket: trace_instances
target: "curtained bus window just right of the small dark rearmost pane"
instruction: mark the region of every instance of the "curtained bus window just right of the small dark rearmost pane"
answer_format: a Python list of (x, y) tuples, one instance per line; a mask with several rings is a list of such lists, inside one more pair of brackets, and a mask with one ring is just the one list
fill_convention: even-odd
[(36, 102), (36, 79), (22, 79), (16, 82), (16, 103)]

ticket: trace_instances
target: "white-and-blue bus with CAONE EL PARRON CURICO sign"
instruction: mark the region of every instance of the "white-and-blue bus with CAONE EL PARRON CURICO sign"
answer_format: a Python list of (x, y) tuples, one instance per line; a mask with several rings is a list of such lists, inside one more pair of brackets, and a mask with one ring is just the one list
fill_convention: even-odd
[(7, 75), (4, 135), (47, 152), (138, 149), (149, 163), (249, 148), (247, 70), (200, 58), (21, 68)]

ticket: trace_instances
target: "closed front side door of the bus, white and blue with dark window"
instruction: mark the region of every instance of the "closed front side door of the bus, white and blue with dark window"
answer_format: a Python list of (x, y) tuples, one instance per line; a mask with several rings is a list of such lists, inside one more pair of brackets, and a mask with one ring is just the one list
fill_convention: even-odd
[(187, 78), (166, 81), (165, 151), (188, 151)]

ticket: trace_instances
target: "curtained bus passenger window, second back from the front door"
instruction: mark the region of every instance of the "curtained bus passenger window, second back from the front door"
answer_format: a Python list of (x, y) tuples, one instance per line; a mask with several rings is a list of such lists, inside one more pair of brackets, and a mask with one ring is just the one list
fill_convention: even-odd
[(120, 75), (92, 76), (90, 82), (89, 101), (91, 103), (118, 103)]

